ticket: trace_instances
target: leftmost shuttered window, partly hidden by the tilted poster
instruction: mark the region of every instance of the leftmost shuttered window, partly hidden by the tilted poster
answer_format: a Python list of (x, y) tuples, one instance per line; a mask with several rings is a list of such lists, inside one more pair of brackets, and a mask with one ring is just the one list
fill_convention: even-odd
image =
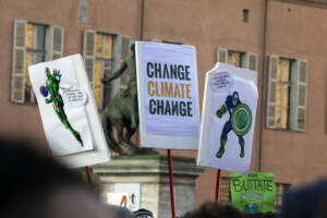
[(14, 21), (11, 101), (34, 104), (27, 66), (62, 57), (63, 28)]

